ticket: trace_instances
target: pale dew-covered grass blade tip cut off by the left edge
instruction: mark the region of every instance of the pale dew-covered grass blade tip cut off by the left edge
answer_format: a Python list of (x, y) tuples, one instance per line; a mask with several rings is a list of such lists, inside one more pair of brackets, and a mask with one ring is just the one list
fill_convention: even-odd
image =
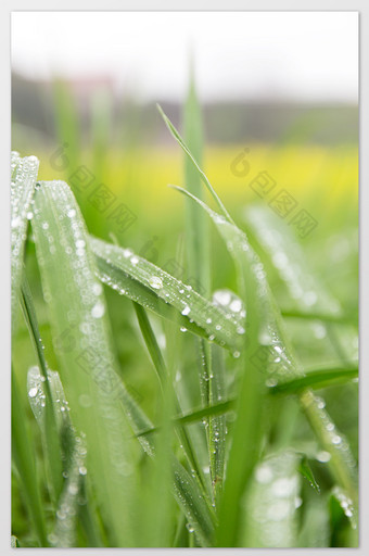
[(12, 332), (16, 326), (18, 290), (21, 288), (24, 245), (39, 162), (36, 156), (21, 159), (11, 154), (11, 264), (12, 264)]

